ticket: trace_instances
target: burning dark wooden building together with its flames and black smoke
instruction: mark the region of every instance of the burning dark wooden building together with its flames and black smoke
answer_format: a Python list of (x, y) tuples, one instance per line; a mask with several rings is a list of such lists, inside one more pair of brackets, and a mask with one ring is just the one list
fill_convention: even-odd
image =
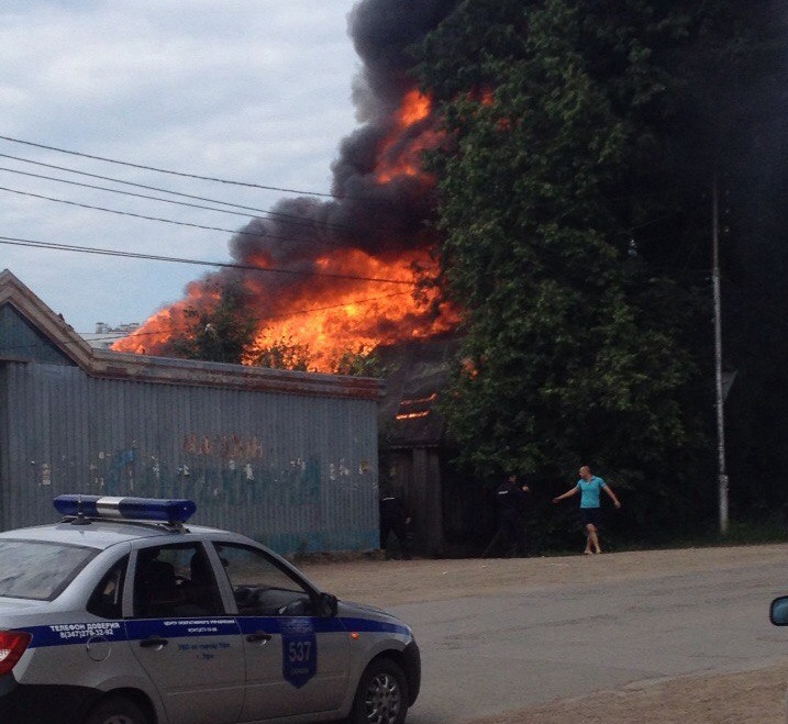
[(410, 75), (408, 48), (456, 4), (362, 0), (349, 18), (364, 63), (354, 90), (362, 124), (340, 143), (333, 198), (279, 201), (231, 240), (236, 268), (193, 281), (182, 300), (114, 345), (170, 354), (170, 341), (188, 335), (190, 311), (210, 310), (223, 290), (240, 289), (255, 320), (253, 348), (290, 341), (308, 347), (318, 371), (335, 369), (345, 353), (387, 348), (396, 371), (379, 415), (391, 433), (381, 438), (385, 475), (420, 511), (417, 550), (436, 555), (474, 527), (479, 501), (473, 481), (448, 470), (451, 449), (435, 404), (456, 347), (447, 337), (460, 316), (435, 283), (435, 179), (422, 164), (423, 152), (445, 136), (432, 99)]

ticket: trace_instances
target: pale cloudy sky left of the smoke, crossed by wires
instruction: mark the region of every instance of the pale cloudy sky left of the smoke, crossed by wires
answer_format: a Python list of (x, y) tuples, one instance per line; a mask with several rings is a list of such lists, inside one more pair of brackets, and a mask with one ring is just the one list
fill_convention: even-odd
[(98, 322), (142, 323), (181, 299), (185, 286), (211, 268), (3, 241), (227, 263), (232, 233), (254, 212), (219, 213), (135, 198), (129, 193), (165, 194), (86, 174), (259, 210), (297, 196), (53, 148), (329, 192), (338, 143), (357, 126), (351, 93), (360, 62), (347, 35), (355, 2), (5, 0), (0, 8), (0, 270), (11, 270), (77, 332), (91, 333)]

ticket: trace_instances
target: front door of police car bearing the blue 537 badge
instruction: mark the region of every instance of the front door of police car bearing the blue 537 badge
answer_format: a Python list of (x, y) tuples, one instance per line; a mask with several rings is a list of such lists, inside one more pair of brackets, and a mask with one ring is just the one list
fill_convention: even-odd
[(307, 583), (265, 552), (217, 543), (246, 651), (242, 721), (330, 712), (347, 690), (349, 643), (336, 616), (311, 615)]

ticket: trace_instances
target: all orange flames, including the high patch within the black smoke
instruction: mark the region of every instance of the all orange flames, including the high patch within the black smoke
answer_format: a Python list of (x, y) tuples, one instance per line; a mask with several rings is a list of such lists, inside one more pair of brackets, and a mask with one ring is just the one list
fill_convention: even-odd
[[(437, 146), (444, 134), (431, 127), (431, 113), (428, 94), (418, 90), (406, 94), (389, 136), (378, 147), (373, 177), (377, 183), (406, 176), (423, 182), (425, 190), (433, 185), (434, 179), (421, 168), (421, 154)], [(246, 256), (244, 265), (263, 270), (275, 263), (260, 252)], [(244, 277), (244, 292), (259, 310), (254, 343), (246, 350), (247, 364), (254, 359), (255, 349), (285, 341), (308, 347), (315, 371), (333, 371), (347, 352), (369, 352), (380, 344), (434, 336), (459, 323), (455, 309), (439, 303), (434, 287), (419, 285), (437, 275), (429, 242), (421, 248), (379, 255), (352, 246), (337, 247), (310, 265), (317, 274), (277, 286), (276, 290), (267, 285), (265, 274)], [(192, 282), (186, 299), (154, 314), (113, 349), (156, 354), (174, 335), (188, 334), (188, 310), (211, 309), (218, 301), (219, 293), (209, 290), (209, 281)]]

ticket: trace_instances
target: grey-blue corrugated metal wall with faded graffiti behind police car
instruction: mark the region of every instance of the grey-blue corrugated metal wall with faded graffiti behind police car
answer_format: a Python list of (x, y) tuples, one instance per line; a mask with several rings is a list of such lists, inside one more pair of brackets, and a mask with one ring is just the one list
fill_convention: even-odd
[(0, 527), (63, 492), (184, 497), (281, 553), (378, 545), (377, 403), (0, 363)]

